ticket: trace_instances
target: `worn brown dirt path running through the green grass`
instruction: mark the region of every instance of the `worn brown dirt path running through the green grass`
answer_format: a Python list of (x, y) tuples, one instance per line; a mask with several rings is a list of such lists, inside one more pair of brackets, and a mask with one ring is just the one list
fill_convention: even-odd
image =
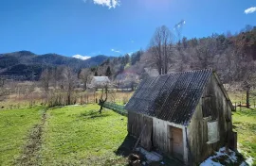
[(42, 145), (43, 128), (46, 124), (46, 111), (47, 108), (44, 109), (40, 124), (34, 125), (30, 130), (23, 153), (17, 158), (15, 165), (40, 165), (38, 155)]

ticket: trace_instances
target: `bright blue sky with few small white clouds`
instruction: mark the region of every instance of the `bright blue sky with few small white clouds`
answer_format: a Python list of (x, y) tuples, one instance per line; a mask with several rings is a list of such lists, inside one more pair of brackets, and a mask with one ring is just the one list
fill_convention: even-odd
[(0, 53), (119, 56), (147, 48), (155, 27), (173, 30), (182, 19), (187, 38), (239, 32), (256, 25), (255, 7), (255, 0), (1, 0)]

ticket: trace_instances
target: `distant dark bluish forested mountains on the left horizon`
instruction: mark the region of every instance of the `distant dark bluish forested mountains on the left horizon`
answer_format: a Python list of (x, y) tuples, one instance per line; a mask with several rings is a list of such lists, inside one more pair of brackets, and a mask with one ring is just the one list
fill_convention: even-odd
[(57, 54), (36, 55), (29, 51), (0, 54), (0, 75), (21, 76), (23, 79), (38, 79), (46, 68), (69, 66), (74, 71), (101, 64), (107, 56), (96, 56), (82, 60)]

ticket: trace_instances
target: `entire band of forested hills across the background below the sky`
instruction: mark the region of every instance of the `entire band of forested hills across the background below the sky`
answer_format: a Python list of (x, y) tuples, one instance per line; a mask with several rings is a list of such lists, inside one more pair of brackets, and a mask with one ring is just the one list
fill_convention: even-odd
[(38, 79), (46, 68), (69, 66), (77, 74), (82, 68), (91, 68), (90, 75), (107, 75), (113, 80), (139, 77), (137, 80), (140, 80), (148, 75), (148, 71), (154, 70), (162, 70), (165, 74), (212, 68), (223, 83), (254, 82), (256, 85), (255, 26), (247, 26), (237, 34), (212, 34), (193, 39), (183, 37), (179, 42), (172, 41), (172, 38), (165, 39), (169, 35), (162, 35), (164, 33), (172, 32), (162, 25), (155, 29), (146, 50), (118, 58), (97, 56), (82, 60), (56, 54), (38, 56), (28, 51), (0, 54), (0, 75)]

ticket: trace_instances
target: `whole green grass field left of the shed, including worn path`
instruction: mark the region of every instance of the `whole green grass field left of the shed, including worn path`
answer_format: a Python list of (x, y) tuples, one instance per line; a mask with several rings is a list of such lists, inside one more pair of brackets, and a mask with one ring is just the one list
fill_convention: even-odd
[(125, 165), (127, 118), (99, 106), (0, 111), (0, 165)]

